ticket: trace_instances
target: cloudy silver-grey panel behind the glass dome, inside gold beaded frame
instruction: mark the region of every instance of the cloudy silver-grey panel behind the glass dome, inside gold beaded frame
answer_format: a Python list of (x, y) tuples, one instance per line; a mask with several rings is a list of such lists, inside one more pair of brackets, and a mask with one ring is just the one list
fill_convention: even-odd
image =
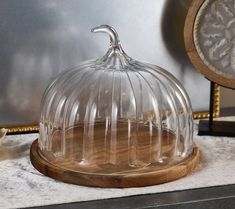
[(0, 124), (38, 122), (47, 84), (62, 70), (100, 57), (104, 36), (90, 29), (109, 24), (133, 58), (173, 73), (194, 111), (208, 110), (209, 82), (184, 50), (183, 25), (191, 0), (1, 0)]

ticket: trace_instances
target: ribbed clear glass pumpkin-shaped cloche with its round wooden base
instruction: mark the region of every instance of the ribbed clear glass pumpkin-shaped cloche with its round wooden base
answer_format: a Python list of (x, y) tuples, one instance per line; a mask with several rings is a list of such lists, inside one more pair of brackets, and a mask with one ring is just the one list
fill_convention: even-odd
[(101, 187), (185, 176), (199, 159), (186, 91), (166, 70), (129, 57), (112, 27), (92, 32), (109, 35), (109, 50), (46, 89), (33, 165), (65, 182)]

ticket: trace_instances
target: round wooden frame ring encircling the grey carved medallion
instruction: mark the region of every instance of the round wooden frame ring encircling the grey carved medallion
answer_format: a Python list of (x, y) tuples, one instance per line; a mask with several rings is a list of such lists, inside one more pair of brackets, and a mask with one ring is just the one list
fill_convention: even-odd
[[(196, 28), (198, 27), (198, 23), (196, 23), (196, 18), (204, 2), (205, 0), (193, 0), (188, 10), (184, 26), (184, 42), (186, 52), (196, 69), (200, 73), (202, 73), (206, 78), (211, 81), (214, 81), (215, 83), (221, 86), (235, 89), (235, 78), (232, 78), (232, 76), (224, 76), (223, 73), (215, 72), (215, 70), (213, 69), (214, 67), (210, 64), (208, 65), (209, 61), (207, 61), (206, 59), (203, 60), (199, 55), (199, 52), (197, 51), (197, 47), (194, 40), (194, 30), (195, 24)], [(217, 68), (217, 70), (219, 69)]]

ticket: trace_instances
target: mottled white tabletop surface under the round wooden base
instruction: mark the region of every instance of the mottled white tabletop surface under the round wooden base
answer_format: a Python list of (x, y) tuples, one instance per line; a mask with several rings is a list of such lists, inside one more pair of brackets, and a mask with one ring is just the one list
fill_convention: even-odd
[[(234, 119), (234, 118), (230, 118)], [(29, 148), (38, 134), (7, 136), (0, 147), (0, 208), (22, 208), (235, 184), (235, 138), (197, 136), (202, 160), (192, 174), (142, 188), (103, 189), (62, 183), (40, 174)]]

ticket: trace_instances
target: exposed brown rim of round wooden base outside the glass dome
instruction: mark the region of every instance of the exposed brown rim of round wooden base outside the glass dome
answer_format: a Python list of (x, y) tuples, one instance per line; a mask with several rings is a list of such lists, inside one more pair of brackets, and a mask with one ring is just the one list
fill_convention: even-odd
[(191, 173), (200, 159), (199, 149), (195, 146), (192, 154), (184, 162), (167, 169), (152, 168), (146, 173), (142, 170), (139, 174), (98, 175), (57, 167), (43, 159), (38, 149), (38, 140), (35, 140), (30, 149), (30, 159), (33, 166), (44, 175), (66, 183), (105, 188), (142, 187), (173, 181)]

